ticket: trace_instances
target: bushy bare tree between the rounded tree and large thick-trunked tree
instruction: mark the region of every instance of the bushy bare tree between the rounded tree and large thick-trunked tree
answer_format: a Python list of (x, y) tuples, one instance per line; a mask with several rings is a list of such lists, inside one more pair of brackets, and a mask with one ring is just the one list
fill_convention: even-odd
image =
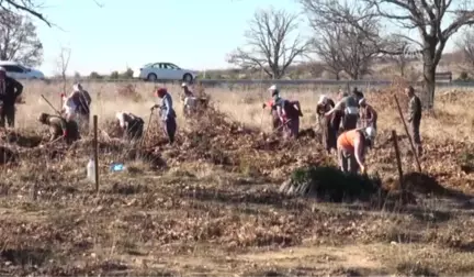
[[(327, 70), (346, 71), (352, 79), (370, 73), (373, 59), (381, 52), (383, 40), (379, 35), (379, 22), (370, 9), (337, 1), (301, 0), (313, 26), (315, 52), (326, 64)], [(334, 13), (353, 19), (360, 27), (342, 21)], [(357, 18), (359, 16), (359, 18)]]

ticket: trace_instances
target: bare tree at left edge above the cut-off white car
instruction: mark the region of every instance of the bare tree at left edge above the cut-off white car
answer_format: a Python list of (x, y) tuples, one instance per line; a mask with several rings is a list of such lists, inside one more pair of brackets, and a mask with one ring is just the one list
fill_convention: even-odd
[(0, 11), (0, 59), (26, 66), (43, 62), (43, 44), (36, 35), (36, 26), (26, 16)]

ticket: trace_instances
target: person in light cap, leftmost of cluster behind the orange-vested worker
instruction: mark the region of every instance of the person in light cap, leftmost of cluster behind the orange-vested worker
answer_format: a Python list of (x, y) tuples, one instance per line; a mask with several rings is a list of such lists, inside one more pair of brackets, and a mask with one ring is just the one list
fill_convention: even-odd
[(330, 118), (325, 117), (325, 113), (334, 107), (335, 102), (332, 99), (325, 95), (319, 97), (319, 101), (316, 106), (317, 123), (319, 124), (319, 129), (323, 132), (323, 143), (328, 153), (330, 153), (332, 148), (336, 149), (336, 137), (340, 123), (340, 118), (337, 119), (337, 113), (334, 113)]

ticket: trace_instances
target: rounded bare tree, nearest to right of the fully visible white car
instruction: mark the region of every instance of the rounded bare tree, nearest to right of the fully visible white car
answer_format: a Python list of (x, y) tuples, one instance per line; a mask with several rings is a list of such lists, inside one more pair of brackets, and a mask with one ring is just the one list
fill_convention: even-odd
[(257, 11), (245, 34), (247, 47), (234, 51), (228, 63), (245, 69), (262, 69), (270, 78), (282, 78), (287, 67), (306, 54), (311, 44), (300, 35), (292, 37), (297, 27), (295, 14), (273, 8)]

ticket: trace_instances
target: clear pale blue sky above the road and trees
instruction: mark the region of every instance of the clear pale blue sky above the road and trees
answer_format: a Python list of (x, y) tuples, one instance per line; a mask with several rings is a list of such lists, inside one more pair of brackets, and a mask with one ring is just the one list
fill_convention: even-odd
[[(228, 68), (226, 55), (245, 45), (255, 11), (269, 7), (302, 12), (295, 0), (44, 0), (41, 11), (57, 26), (35, 20), (44, 47), (38, 69), (57, 74), (63, 47), (71, 51), (69, 75), (157, 62), (196, 70)], [(311, 35), (307, 24), (301, 26), (302, 35)]]

